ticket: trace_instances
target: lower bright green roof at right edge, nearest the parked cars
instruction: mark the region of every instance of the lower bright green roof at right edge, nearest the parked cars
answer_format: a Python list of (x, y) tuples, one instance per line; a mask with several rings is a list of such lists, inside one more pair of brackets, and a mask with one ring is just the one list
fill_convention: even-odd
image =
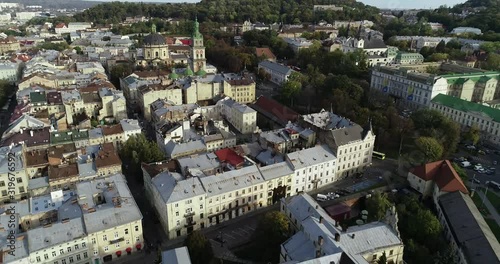
[(463, 112), (483, 113), (484, 115), (491, 117), (495, 122), (500, 122), (500, 109), (465, 101), (445, 94), (436, 95), (431, 102)]

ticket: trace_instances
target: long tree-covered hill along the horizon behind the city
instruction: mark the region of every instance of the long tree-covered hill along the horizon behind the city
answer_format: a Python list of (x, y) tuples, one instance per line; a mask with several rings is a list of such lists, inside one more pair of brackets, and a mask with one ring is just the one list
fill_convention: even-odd
[[(315, 4), (335, 4), (343, 11), (313, 12)], [(324, 19), (380, 21), (379, 10), (353, 0), (202, 0), (199, 3), (147, 4), (111, 2), (96, 5), (76, 14), (76, 21), (99, 24), (118, 23), (130, 16), (157, 18), (193, 18), (201, 22), (241, 23), (245, 20), (264, 23), (304, 23)]]

